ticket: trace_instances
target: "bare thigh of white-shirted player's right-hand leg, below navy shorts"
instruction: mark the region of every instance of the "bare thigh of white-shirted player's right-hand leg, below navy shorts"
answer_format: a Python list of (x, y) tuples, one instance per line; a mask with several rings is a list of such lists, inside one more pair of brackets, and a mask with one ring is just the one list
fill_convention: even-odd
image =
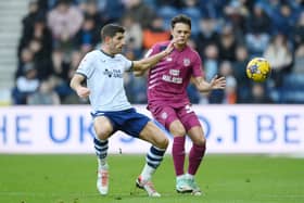
[(145, 140), (157, 148), (167, 148), (168, 139), (165, 134), (152, 122), (148, 122), (141, 130), (139, 138)]

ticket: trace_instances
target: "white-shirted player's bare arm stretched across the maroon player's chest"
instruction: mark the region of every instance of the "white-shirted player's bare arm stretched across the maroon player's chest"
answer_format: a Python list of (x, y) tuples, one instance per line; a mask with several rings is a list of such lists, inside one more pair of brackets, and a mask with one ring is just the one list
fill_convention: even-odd
[(170, 43), (167, 46), (167, 48), (164, 51), (162, 51), (155, 55), (152, 55), (150, 58), (144, 58), (139, 61), (134, 61), (132, 69), (134, 69), (134, 72), (138, 73), (136, 75), (138, 75), (138, 76), (141, 75), (141, 73), (144, 73), (144, 71), (154, 66), (161, 59), (167, 56), (173, 51), (174, 43), (175, 43), (174, 40), (170, 41)]

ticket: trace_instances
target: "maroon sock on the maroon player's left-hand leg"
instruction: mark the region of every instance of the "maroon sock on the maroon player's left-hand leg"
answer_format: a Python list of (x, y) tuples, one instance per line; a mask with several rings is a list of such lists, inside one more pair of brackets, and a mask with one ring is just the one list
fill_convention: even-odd
[(175, 137), (173, 141), (172, 154), (176, 176), (183, 175), (185, 164), (185, 140), (186, 137)]

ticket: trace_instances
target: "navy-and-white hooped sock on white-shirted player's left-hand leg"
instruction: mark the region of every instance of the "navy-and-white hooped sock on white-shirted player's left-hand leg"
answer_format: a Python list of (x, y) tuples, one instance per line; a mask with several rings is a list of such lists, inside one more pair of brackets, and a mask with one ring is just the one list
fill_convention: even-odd
[(94, 138), (94, 150), (96, 155), (98, 156), (98, 164), (99, 167), (107, 167), (106, 164), (106, 155), (107, 155), (107, 140), (100, 140), (98, 138)]

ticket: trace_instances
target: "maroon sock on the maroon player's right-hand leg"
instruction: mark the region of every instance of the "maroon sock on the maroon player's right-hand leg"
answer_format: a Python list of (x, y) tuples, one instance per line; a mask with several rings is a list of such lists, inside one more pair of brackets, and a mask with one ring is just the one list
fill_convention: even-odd
[(206, 145), (193, 144), (189, 153), (188, 174), (195, 175), (205, 154)]

